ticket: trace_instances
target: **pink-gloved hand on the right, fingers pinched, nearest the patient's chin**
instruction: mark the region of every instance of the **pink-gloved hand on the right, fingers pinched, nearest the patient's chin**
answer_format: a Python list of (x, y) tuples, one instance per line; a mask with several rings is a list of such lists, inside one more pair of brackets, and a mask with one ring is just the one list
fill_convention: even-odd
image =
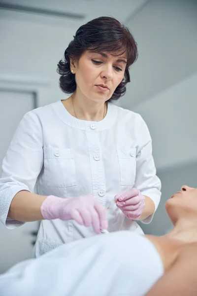
[(138, 219), (145, 207), (145, 197), (137, 188), (117, 194), (114, 200), (117, 207), (131, 220)]

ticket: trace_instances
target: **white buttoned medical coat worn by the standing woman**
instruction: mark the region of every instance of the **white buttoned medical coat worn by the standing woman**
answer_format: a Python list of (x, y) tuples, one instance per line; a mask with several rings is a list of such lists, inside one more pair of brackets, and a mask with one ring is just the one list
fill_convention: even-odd
[[(20, 190), (72, 198), (93, 194), (105, 206), (110, 232), (142, 232), (116, 207), (114, 196), (137, 187), (157, 209), (161, 182), (156, 176), (148, 128), (137, 113), (108, 104), (99, 122), (77, 119), (61, 101), (28, 112), (21, 120), (2, 164), (0, 221), (8, 228), (23, 223), (7, 218)], [(148, 223), (152, 216), (144, 220)], [(94, 235), (92, 227), (59, 219), (41, 222), (35, 256), (63, 243)]]

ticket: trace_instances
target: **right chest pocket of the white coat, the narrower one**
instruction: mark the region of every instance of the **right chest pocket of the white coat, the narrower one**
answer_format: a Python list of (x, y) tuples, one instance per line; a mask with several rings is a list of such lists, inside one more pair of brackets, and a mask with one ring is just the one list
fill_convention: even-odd
[(136, 176), (136, 148), (117, 148), (120, 184), (133, 186)]

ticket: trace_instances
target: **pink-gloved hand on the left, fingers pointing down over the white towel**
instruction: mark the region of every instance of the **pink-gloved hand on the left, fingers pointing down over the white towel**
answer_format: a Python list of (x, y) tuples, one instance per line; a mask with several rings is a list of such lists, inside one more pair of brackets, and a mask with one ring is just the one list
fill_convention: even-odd
[(105, 209), (93, 195), (74, 198), (49, 195), (43, 201), (40, 211), (46, 220), (75, 220), (86, 227), (92, 225), (97, 234), (100, 233), (100, 228), (108, 227)]

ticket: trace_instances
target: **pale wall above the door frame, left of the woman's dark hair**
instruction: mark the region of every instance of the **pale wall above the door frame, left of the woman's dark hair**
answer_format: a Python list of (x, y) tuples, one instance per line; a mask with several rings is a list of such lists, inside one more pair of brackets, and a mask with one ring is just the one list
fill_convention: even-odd
[(56, 69), (75, 30), (15, 18), (1, 18), (0, 27), (1, 76), (47, 80), (48, 90), (39, 97), (39, 106), (65, 98), (59, 89)]

